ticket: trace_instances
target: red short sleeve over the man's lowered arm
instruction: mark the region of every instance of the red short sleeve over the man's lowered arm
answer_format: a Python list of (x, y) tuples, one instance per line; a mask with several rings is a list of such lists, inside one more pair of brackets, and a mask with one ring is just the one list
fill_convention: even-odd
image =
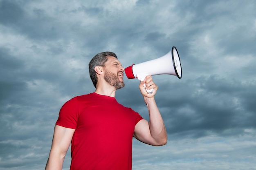
[(78, 115), (79, 105), (77, 99), (74, 97), (61, 107), (56, 125), (76, 129)]

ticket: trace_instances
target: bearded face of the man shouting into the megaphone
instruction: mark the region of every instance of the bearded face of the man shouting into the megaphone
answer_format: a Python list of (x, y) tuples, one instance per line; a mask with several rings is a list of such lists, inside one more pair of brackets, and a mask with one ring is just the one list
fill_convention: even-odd
[(116, 89), (124, 87), (124, 67), (112, 56), (107, 56), (108, 61), (105, 63), (105, 81), (114, 86)]

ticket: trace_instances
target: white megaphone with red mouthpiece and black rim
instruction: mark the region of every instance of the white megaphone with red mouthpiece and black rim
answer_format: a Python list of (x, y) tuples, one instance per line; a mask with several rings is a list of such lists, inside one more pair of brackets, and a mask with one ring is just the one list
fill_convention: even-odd
[[(179, 79), (182, 77), (180, 56), (175, 46), (162, 57), (140, 64), (132, 64), (125, 68), (124, 71), (129, 79), (137, 78), (139, 81), (143, 81), (147, 75), (169, 74), (175, 75)], [(152, 93), (153, 89), (151, 90), (147, 90), (148, 93)]]

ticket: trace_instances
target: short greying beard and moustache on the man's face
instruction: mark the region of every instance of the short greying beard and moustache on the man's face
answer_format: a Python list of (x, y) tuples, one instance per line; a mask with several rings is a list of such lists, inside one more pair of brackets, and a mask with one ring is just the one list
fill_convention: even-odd
[(124, 82), (121, 82), (118, 77), (119, 72), (115, 75), (114, 73), (110, 73), (106, 70), (106, 74), (104, 75), (105, 81), (116, 89), (120, 89), (124, 87)]

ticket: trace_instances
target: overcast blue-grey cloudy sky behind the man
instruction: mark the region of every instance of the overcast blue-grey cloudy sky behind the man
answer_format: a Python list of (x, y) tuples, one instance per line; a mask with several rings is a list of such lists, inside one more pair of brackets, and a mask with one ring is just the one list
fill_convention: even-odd
[[(256, 170), (256, 1), (0, 0), (0, 170), (42, 170), (61, 106), (94, 92), (88, 63), (124, 67), (177, 48), (153, 75), (165, 146), (133, 140), (132, 170)], [(161, 67), (161, 63), (156, 67)], [(139, 81), (117, 101), (149, 119)], [(70, 150), (63, 163), (69, 170)]]

